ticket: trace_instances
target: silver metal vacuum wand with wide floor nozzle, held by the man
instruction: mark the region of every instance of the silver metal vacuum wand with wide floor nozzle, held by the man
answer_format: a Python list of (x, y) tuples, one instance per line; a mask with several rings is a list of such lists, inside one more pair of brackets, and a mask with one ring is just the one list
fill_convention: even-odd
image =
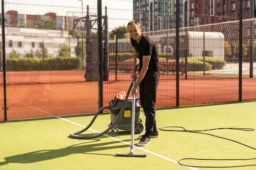
[[(136, 77), (133, 77), (133, 87), (136, 85)], [(129, 95), (129, 94), (127, 94)], [(137, 156), (137, 157), (146, 157), (146, 153), (133, 153), (134, 152), (134, 126), (135, 126), (135, 94), (133, 93), (133, 105), (132, 105), (132, 132), (131, 132), (131, 150), (130, 153), (117, 153), (117, 156)]]

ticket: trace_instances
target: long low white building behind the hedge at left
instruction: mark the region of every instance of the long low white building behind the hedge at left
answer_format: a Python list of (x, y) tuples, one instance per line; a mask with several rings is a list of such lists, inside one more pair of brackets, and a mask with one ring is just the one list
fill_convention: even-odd
[[(2, 42), (1, 36), (0, 42)], [(48, 57), (58, 56), (59, 46), (62, 44), (70, 47), (70, 56), (76, 56), (75, 47), (78, 44), (78, 40), (77, 38), (72, 38), (68, 34), (68, 31), (15, 27), (5, 28), (5, 53), (7, 57), (13, 50), (19, 52), (20, 57), (26, 57), (31, 51), (41, 50), (42, 43), (48, 51)]]

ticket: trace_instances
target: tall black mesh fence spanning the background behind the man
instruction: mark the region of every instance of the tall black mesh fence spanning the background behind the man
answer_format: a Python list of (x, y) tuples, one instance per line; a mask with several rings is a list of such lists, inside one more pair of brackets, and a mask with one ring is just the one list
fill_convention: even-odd
[(157, 46), (157, 107), (256, 99), (254, 1), (243, 0), (242, 29), (239, 0), (181, 0), (179, 11), (175, 0), (101, 0), (100, 18), (97, 3), (4, 0), (8, 119), (93, 113), (98, 103), (108, 105), (127, 91), (134, 58), (127, 23), (133, 19)]

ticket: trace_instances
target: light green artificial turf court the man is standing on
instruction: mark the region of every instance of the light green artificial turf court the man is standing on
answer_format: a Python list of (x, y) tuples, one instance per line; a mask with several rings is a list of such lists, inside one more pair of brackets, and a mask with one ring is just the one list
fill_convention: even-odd
[[(187, 130), (212, 128), (256, 129), (256, 102), (209, 104), (157, 110), (158, 128), (182, 126)], [(86, 126), (93, 115), (62, 117)], [(145, 117), (140, 118), (145, 122)], [(130, 131), (113, 132), (96, 139), (72, 139), (69, 134), (82, 129), (59, 118), (17, 120), (0, 123), (0, 170), (188, 170), (187, 167), (166, 160), (182, 158), (236, 159), (254, 158), (256, 150), (226, 139), (186, 132), (159, 131), (159, 138), (151, 139), (145, 151), (135, 148), (135, 153), (147, 153), (147, 157), (117, 157), (117, 152), (128, 153)], [(98, 116), (91, 129), (102, 132), (110, 123), (110, 115)], [(170, 128), (175, 129), (175, 128)], [(176, 128), (177, 129), (177, 128)], [(255, 131), (215, 130), (209, 134), (226, 137), (256, 148)], [(88, 130), (87, 135), (94, 132)], [(138, 143), (135, 135), (135, 144)], [(150, 152), (159, 154), (152, 154)], [(235, 166), (256, 164), (250, 161), (183, 161), (196, 166)], [(206, 168), (198, 168), (206, 170)], [(255, 170), (256, 166), (234, 168)], [(209, 170), (209, 169), (207, 169)]]

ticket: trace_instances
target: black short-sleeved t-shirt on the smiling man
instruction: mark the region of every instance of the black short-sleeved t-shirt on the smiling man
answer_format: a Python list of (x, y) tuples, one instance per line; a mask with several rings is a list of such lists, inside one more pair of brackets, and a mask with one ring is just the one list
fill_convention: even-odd
[(138, 52), (138, 59), (139, 59), (139, 71), (142, 68), (142, 58), (143, 55), (151, 55), (150, 61), (148, 64), (147, 71), (158, 71), (159, 70), (159, 61), (158, 61), (158, 51), (155, 42), (148, 37), (147, 35), (142, 34), (142, 38), (137, 44), (137, 41), (130, 38), (132, 46)]

